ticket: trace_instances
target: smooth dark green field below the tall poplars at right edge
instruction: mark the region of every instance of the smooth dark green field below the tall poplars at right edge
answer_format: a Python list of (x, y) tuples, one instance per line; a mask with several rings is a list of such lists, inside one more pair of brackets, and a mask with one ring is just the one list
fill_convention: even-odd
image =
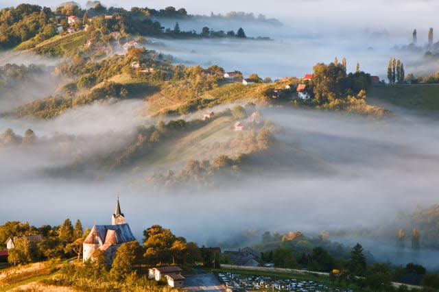
[(390, 104), (421, 113), (439, 111), (439, 84), (377, 86), (368, 90), (372, 104)]

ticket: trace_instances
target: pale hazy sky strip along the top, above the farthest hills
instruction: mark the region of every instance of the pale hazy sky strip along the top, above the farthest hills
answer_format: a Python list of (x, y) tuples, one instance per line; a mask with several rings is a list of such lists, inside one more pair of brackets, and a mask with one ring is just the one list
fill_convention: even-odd
[[(54, 0), (27, 0), (27, 3), (37, 3), (52, 7), (62, 3)], [(77, 1), (85, 5), (86, 1)], [(23, 1), (2, 0), (0, 7), (18, 5)], [(120, 6), (121, 2), (114, 0), (102, 1), (107, 6)], [(253, 12), (265, 14), (270, 18), (278, 18), (284, 23), (296, 26), (317, 25), (321, 23), (339, 25), (340, 27), (434, 27), (438, 24), (436, 12), (439, 1), (434, 0), (274, 0), (274, 1), (199, 1), (199, 0), (150, 0), (123, 1), (124, 8), (132, 6), (165, 8), (168, 5), (185, 8), (190, 14), (211, 14), (211, 12), (226, 13), (230, 11)]]

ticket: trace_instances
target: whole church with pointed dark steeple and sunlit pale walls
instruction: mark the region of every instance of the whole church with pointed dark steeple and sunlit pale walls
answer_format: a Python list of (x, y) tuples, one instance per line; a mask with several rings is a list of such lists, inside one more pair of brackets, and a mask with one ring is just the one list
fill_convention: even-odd
[(111, 225), (95, 225), (91, 228), (82, 244), (82, 258), (84, 262), (93, 257), (96, 250), (102, 250), (106, 256), (106, 263), (111, 264), (117, 249), (122, 243), (136, 241), (130, 226), (125, 223), (125, 216), (121, 212), (119, 197), (117, 197), (116, 210), (112, 215)]

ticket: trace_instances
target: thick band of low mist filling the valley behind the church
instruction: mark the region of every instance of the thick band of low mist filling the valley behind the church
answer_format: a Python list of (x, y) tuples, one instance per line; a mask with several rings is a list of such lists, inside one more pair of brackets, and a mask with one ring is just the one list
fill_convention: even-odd
[[(111, 110), (117, 105), (117, 110)], [(100, 107), (101, 120), (112, 115), (125, 114), (125, 118), (101, 122), (101, 128), (93, 129), (93, 123), (99, 123), (91, 119), (96, 114), (93, 106), (82, 109), (88, 112), (83, 121), (91, 125), (87, 139), (94, 145), (82, 146), (88, 149), (89, 158), (121, 147), (117, 137), (122, 143), (126, 138), (122, 132), (150, 123), (129, 119), (129, 105), (128, 110), (120, 103)], [(437, 121), (410, 116), (377, 121), (312, 110), (260, 110), (265, 119), (285, 128), (284, 134), (276, 135), (278, 146), (265, 158), (250, 161), (237, 181), (195, 191), (153, 188), (142, 176), (146, 177), (154, 165), (147, 165), (143, 171), (128, 168), (94, 173), (91, 180), (56, 178), (35, 167), (34, 160), (40, 159), (45, 167), (57, 167), (64, 154), (49, 160), (40, 149), (19, 147), (14, 154), (3, 148), (6, 155), (0, 156), (1, 175), (5, 179), (1, 180), (1, 193), (5, 195), (0, 198), (0, 221), (29, 220), (39, 225), (71, 217), (82, 219), (85, 226), (109, 223), (119, 193), (123, 212), (139, 240), (143, 229), (158, 223), (189, 240), (207, 244), (222, 242), (227, 234), (246, 229), (300, 230), (306, 234), (379, 226), (387, 224), (399, 210), (437, 203)], [(67, 133), (87, 132), (86, 127), (72, 125), (73, 121), (78, 119), (69, 119), (66, 112), (54, 124)], [(2, 125), (8, 123), (12, 121), (2, 121)], [(38, 129), (38, 123), (35, 126)], [(25, 127), (21, 125), (21, 129)], [(103, 138), (113, 127), (119, 132)], [(71, 147), (76, 146), (73, 143)], [(13, 179), (8, 176), (11, 172)]]

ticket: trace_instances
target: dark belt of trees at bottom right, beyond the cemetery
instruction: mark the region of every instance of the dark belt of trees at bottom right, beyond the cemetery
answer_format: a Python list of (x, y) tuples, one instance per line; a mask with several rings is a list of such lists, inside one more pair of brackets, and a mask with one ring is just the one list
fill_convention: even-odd
[[(400, 230), (400, 236), (404, 236), (403, 230)], [(439, 287), (438, 276), (426, 274), (426, 269), (421, 265), (408, 263), (403, 267), (375, 263), (372, 254), (366, 252), (359, 243), (349, 250), (338, 243), (331, 243), (328, 237), (327, 232), (322, 232), (315, 239), (308, 239), (302, 232), (264, 232), (258, 248), (267, 250), (273, 245), (277, 247), (261, 253), (262, 263), (274, 263), (275, 267), (305, 267), (309, 271), (330, 272), (331, 279), (338, 280), (339, 284), (344, 281), (346, 289), (349, 284), (355, 283), (360, 289), (369, 287), (372, 291), (387, 291), (391, 289), (391, 282)], [(416, 241), (416, 230), (413, 237)]]

